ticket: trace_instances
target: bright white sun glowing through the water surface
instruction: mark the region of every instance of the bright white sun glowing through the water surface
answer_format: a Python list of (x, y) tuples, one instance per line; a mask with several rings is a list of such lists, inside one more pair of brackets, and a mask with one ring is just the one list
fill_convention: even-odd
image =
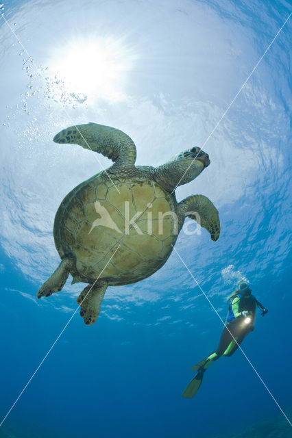
[(88, 99), (123, 99), (132, 55), (119, 41), (77, 40), (53, 55), (51, 70), (70, 92)]

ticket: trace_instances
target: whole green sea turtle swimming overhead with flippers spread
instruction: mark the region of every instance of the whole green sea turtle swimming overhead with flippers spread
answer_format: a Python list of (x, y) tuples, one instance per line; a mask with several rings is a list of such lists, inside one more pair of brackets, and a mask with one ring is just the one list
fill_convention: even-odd
[(180, 203), (175, 198), (178, 185), (210, 164), (198, 147), (154, 168), (135, 166), (134, 142), (112, 127), (77, 125), (60, 131), (53, 141), (80, 144), (114, 164), (63, 199), (53, 227), (62, 261), (38, 298), (60, 291), (71, 274), (72, 283), (88, 283), (77, 302), (85, 324), (94, 324), (108, 286), (136, 283), (165, 264), (186, 216), (218, 239), (219, 214), (206, 196), (188, 196)]

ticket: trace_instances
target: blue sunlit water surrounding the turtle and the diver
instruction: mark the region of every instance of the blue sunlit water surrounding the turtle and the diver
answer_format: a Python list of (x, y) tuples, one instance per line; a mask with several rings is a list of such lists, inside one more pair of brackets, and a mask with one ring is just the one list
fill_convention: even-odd
[[(204, 144), (210, 166), (176, 194), (208, 196), (221, 220), (218, 242), (186, 220), (175, 244), (195, 281), (173, 251), (148, 279), (109, 287), (93, 326), (77, 312), (0, 437), (292, 436), (291, 19), (273, 41), (289, 2), (10, 0), (0, 8), (0, 422), (84, 287), (69, 279), (60, 294), (36, 299), (60, 262), (58, 205), (110, 165), (53, 143), (60, 129), (119, 128), (136, 143), (138, 165)], [(224, 319), (242, 276), (269, 309), (242, 347), (289, 420), (240, 350), (210, 367), (195, 398), (181, 397), (190, 368), (219, 342), (223, 324), (210, 302)]]

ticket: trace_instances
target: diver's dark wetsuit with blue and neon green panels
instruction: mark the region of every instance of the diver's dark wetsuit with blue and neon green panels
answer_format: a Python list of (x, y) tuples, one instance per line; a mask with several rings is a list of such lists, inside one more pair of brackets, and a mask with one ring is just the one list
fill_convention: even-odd
[[(243, 311), (249, 311), (251, 321), (245, 324)], [(256, 319), (256, 298), (252, 295), (242, 296), (240, 293), (234, 295), (229, 302), (226, 326), (221, 334), (219, 346), (215, 352), (206, 358), (202, 363), (202, 368), (206, 370), (211, 363), (217, 361), (221, 356), (232, 356), (234, 351), (239, 348), (241, 342), (250, 331), (254, 330), (254, 320)]]

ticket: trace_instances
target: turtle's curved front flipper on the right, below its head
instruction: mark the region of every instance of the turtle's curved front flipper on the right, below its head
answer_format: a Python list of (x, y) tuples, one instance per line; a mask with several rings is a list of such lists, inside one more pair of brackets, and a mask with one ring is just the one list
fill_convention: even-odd
[(211, 203), (210, 199), (202, 194), (194, 194), (181, 201), (179, 206), (184, 216), (192, 218), (201, 225), (201, 227), (209, 231), (212, 240), (216, 242), (216, 240), (219, 239), (219, 211)]

